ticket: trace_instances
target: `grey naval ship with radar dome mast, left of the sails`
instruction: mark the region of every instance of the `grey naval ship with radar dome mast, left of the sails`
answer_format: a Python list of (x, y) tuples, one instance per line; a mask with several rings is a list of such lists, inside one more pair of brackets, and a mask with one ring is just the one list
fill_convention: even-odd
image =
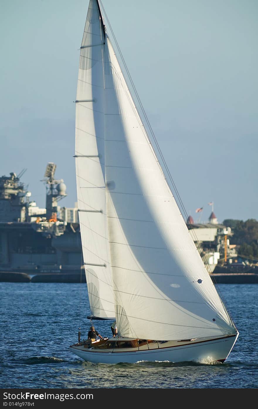
[(67, 196), (55, 179), (56, 164), (44, 174), (46, 208), (31, 200), (20, 174), (0, 177), (0, 272), (78, 274), (83, 268), (78, 209), (58, 206)]

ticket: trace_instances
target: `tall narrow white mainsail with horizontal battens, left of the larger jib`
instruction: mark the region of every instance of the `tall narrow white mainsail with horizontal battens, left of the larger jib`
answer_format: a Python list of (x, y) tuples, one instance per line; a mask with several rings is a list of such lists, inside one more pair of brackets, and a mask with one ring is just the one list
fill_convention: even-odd
[(97, 2), (91, 0), (82, 38), (76, 96), (77, 198), (91, 314), (113, 318), (105, 216), (104, 41)]

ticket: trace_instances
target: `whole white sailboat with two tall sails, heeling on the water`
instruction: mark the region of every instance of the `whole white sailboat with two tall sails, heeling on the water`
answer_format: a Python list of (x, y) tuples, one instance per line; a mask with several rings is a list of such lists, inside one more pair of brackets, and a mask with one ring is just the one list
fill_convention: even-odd
[(90, 0), (74, 156), (88, 318), (116, 320), (118, 336), (79, 337), (70, 349), (95, 363), (224, 362), (238, 331), (169, 187), (102, 11)]

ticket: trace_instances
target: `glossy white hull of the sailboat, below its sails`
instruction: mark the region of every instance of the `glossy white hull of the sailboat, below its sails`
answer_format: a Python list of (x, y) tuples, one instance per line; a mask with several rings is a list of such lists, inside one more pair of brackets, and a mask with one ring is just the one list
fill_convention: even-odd
[(191, 344), (180, 346), (160, 347), (145, 351), (98, 351), (85, 349), (83, 346), (71, 345), (71, 351), (85, 361), (103, 364), (117, 364), (119, 362), (136, 363), (140, 361), (150, 362), (201, 362), (214, 363), (224, 362), (233, 348), (238, 333), (233, 336), (212, 339), (208, 341), (196, 341)]

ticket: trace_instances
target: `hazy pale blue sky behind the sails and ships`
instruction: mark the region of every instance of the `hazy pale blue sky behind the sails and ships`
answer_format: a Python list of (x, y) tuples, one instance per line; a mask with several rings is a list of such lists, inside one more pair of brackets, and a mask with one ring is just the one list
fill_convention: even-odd
[[(171, 175), (194, 220), (258, 219), (258, 1), (102, 0)], [(88, 1), (3, 0), (0, 175), (47, 162), (76, 201), (75, 101)]]

